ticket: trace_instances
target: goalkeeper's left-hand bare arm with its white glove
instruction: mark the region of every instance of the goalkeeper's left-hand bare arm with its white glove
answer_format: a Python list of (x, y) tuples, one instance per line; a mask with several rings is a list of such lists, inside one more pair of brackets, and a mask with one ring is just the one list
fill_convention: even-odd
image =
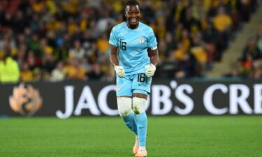
[(124, 68), (122, 66), (119, 66), (117, 47), (111, 44), (110, 44), (110, 61), (115, 68), (115, 73), (117, 73), (117, 75), (120, 78), (123, 78), (126, 75), (126, 73), (124, 73)]

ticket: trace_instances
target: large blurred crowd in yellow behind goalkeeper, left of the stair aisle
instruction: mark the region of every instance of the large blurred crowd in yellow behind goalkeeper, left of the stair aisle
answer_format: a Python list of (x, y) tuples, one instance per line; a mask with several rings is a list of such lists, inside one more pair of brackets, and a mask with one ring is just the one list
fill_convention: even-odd
[[(142, 22), (159, 43), (156, 77), (169, 78), (205, 76), (258, 5), (256, 0), (139, 2)], [(0, 82), (114, 81), (108, 38), (122, 22), (124, 3), (1, 0)], [(249, 58), (249, 52), (243, 54), (241, 63)]]

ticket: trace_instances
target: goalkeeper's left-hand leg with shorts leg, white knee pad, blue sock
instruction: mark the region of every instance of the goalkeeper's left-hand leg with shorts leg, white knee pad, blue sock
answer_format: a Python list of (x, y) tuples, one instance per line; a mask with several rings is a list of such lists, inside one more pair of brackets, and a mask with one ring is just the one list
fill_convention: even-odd
[(131, 83), (128, 76), (124, 78), (117, 77), (117, 108), (124, 124), (138, 135), (136, 119), (132, 110)]

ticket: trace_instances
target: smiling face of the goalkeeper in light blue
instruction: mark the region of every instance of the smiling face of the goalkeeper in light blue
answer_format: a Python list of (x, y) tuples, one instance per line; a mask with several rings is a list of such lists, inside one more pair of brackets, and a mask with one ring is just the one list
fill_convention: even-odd
[(128, 26), (136, 28), (140, 19), (140, 10), (138, 5), (126, 6), (125, 16)]

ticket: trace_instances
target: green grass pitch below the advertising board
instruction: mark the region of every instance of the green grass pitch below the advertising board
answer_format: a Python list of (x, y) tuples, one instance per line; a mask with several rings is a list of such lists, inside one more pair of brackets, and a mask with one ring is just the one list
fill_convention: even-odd
[[(262, 117), (149, 117), (150, 157), (262, 156)], [(0, 119), (1, 157), (129, 157), (119, 117)]]

